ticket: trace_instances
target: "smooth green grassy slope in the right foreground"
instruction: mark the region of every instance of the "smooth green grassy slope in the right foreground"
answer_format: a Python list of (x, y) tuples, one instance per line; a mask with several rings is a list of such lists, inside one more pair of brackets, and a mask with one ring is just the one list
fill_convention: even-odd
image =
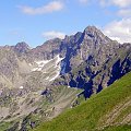
[(131, 131), (131, 72), (35, 131)]

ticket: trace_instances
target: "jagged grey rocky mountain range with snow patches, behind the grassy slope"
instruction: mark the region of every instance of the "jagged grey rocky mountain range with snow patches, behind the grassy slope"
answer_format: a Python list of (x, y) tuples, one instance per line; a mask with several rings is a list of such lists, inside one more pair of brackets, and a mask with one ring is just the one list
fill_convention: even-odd
[[(81, 94), (87, 98), (129, 71), (131, 44), (120, 45), (95, 26), (64, 39), (48, 40), (33, 49), (26, 43), (0, 47), (0, 119), (16, 120), (34, 110), (39, 115), (52, 108), (58, 97), (67, 102), (62, 105), (64, 108), (69, 107), (78, 94), (70, 87), (83, 88)], [(68, 97), (59, 96), (63, 86), (69, 86)], [(49, 91), (48, 100), (43, 99), (46, 91)], [(39, 107), (43, 103), (50, 104), (50, 107)]]

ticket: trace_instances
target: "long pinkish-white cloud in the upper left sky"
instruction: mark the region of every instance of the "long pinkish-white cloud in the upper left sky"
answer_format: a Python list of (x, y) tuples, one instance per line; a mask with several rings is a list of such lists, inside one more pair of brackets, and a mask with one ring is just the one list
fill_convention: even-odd
[(63, 3), (60, 1), (51, 1), (46, 5), (39, 7), (39, 8), (32, 8), (26, 5), (20, 5), (19, 8), (21, 11), (25, 14), (45, 14), (45, 13), (51, 13), (53, 11), (60, 11), (63, 9)]

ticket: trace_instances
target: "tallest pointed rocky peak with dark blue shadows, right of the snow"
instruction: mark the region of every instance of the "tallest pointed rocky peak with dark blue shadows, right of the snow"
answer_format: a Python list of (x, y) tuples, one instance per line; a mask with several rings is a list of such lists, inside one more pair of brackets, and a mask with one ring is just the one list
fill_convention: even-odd
[(84, 88), (84, 96), (90, 97), (131, 71), (131, 45), (120, 45), (94, 26), (66, 37), (62, 44), (68, 45), (61, 62), (62, 76), (52, 85)]

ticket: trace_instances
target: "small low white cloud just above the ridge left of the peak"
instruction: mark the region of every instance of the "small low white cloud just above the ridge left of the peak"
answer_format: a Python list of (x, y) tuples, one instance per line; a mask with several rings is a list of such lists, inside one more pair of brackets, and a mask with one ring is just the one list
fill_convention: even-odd
[(66, 34), (61, 32), (50, 31), (41, 34), (45, 38), (51, 39), (51, 38), (64, 38)]

